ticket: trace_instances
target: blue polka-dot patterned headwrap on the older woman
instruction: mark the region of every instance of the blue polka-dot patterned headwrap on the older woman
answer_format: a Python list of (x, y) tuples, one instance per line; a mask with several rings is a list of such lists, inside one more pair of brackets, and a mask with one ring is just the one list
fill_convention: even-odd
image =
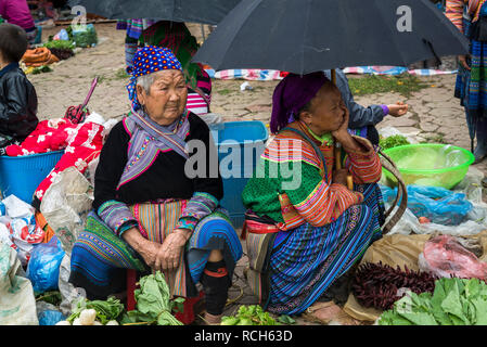
[(149, 75), (163, 69), (179, 69), (182, 72), (181, 63), (175, 54), (167, 49), (155, 46), (140, 48), (133, 56), (133, 66), (127, 67), (127, 73), (131, 75), (127, 85), (128, 95), (132, 103), (133, 111), (141, 108), (137, 100), (137, 77)]

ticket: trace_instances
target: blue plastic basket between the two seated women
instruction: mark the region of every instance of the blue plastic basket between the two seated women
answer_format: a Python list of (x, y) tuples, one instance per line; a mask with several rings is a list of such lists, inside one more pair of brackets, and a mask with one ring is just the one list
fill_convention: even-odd
[(242, 192), (254, 174), (269, 133), (259, 120), (213, 124), (209, 129), (218, 149), (223, 179), (223, 198), (220, 204), (228, 209), (233, 227), (241, 228), (245, 218)]

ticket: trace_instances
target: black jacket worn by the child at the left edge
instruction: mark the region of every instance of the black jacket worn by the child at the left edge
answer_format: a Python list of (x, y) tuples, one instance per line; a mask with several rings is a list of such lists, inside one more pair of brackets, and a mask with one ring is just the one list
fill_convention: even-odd
[(36, 89), (18, 64), (5, 66), (0, 70), (0, 136), (23, 142), (39, 123), (36, 114)]

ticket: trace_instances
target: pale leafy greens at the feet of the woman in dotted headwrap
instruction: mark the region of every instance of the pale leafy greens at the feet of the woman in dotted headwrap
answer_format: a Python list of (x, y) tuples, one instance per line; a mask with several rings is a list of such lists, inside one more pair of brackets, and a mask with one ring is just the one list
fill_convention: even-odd
[(169, 287), (164, 274), (157, 271), (140, 279), (140, 288), (134, 291), (137, 309), (124, 314), (121, 324), (183, 325), (172, 316), (183, 298), (170, 300)]

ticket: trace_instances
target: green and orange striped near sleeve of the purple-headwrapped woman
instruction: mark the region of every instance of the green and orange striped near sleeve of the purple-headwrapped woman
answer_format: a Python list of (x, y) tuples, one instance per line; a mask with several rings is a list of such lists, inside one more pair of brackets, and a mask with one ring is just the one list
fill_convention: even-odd
[(333, 222), (346, 209), (363, 202), (363, 195), (337, 183), (328, 184), (319, 169), (303, 163), (302, 187), (285, 191), (297, 213), (311, 226)]

